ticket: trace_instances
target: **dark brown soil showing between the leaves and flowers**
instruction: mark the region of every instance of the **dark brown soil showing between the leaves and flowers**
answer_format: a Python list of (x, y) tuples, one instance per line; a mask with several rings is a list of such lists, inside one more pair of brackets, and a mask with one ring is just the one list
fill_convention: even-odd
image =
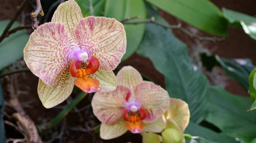
[[(16, 7), (21, 4), (23, 0), (0, 0), (1, 9), (0, 9), (0, 20), (5, 19), (11, 19), (13, 13), (16, 11)], [(231, 10), (236, 10), (242, 13), (246, 13), (249, 15), (255, 15), (255, 5), (256, 1), (251, 0), (212, 0), (213, 3), (217, 4), (218, 7), (226, 7)], [(32, 7), (29, 6), (29, 4), (26, 7), (26, 13), (31, 12), (33, 10)], [(191, 26), (187, 25), (186, 23), (176, 19), (173, 16), (170, 16), (169, 14), (166, 14), (164, 12), (161, 12), (161, 15), (168, 21), (170, 24), (178, 24), (181, 23), (183, 27), (186, 27), (188, 30), (191, 29)], [(21, 21), (21, 17), (18, 18), (18, 21)], [(26, 18), (26, 23), (30, 22), (29, 17)], [(3, 28), (3, 27), (1, 27)], [(220, 57), (226, 57), (226, 58), (250, 58), (252, 59), (252, 62), (256, 63), (256, 57), (254, 56), (255, 53), (255, 47), (256, 47), (256, 41), (251, 39), (248, 35), (246, 35), (242, 30), (237, 29), (228, 29), (231, 37), (225, 41), (222, 42), (201, 42), (201, 44), (209, 49), (218, 47), (217, 50), (215, 50), (213, 53), (218, 54)], [(187, 35), (184, 35), (178, 30), (173, 31), (175, 36), (177, 36), (181, 41), (188, 44), (190, 47), (190, 52), (193, 52), (192, 48), (196, 43), (193, 39), (190, 39)], [(198, 32), (201, 36), (209, 36), (206, 33)], [(157, 72), (157, 70), (154, 69), (154, 66), (152, 62), (148, 58), (143, 58), (138, 56), (136, 53), (133, 54), (133, 56), (130, 57), (130, 59), (123, 61), (117, 69), (114, 71), (117, 73), (118, 70), (120, 70), (121, 67), (131, 65), (135, 67), (139, 72), (143, 73), (145, 76), (148, 76), (150, 79), (152, 79), (157, 84), (161, 85), (162, 87), (165, 87), (164, 83), (164, 76)], [(22, 74), (16, 74), (17, 76), (17, 85), (16, 92), (19, 93), (19, 100), (21, 103), (24, 104), (24, 110), (29, 115), (29, 117), (35, 122), (36, 125), (41, 126), (44, 122), (49, 122), (51, 119), (56, 116), (57, 113), (61, 109), (51, 108), (46, 109), (42, 106), (40, 99), (38, 98), (37, 94), (37, 84), (38, 84), (38, 77), (33, 75), (31, 72), (26, 73), (26, 78), (23, 77)], [(4, 83), (9, 82), (8, 79), (4, 79)], [(229, 80), (228, 85), (226, 89), (230, 93), (234, 93), (241, 96), (248, 96), (247, 91), (245, 91), (242, 86), (234, 81)], [(4, 87), (6, 87), (4, 85)], [(25, 92), (24, 92), (25, 91)], [(72, 93), (71, 97), (74, 99), (76, 96), (75, 93)], [(5, 97), (8, 97), (8, 93), (5, 93)], [(101, 140), (99, 138), (98, 133), (94, 133), (93, 131), (88, 131), (88, 129), (91, 129), (99, 124), (99, 121), (93, 116), (92, 114), (92, 108), (90, 107), (90, 100), (92, 98), (92, 95), (88, 95), (85, 97), (78, 105), (77, 108), (81, 109), (87, 105), (88, 108), (84, 109), (83, 111), (79, 113), (69, 113), (67, 117), (63, 120), (63, 122), (60, 123), (60, 126), (56, 127), (56, 129), (53, 130), (52, 133), (48, 134), (47, 136), (44, 136), (42, 139), (44, 141), (50, 140), (54, 136), (58, 136), (59, 132), (62, 127), (64, 127), (64, 134), (63, 134), (63, 142), (69, 142), (69, 143), (80, 143), (80, 142), (118, 142), (118, 143), (126, 143), (126, 142), (141, 142), (140, 135), (131, 135), (131, 134), (125, 134), (117, 139), (113, 140)], [(32, 103), (27, 104), (26, 102), (33, 101)], [(63, 102), (60, 104), (59, 107), (65, 105), (66, 102)], [(12, 111), (7, 108), (7, 113), (11, 113)], [(5, 117), (5, 119), (7, 119)], [(83, 129), (83, 131), (76, 131), (77, 129)], [(7, 130), (7, 137), (8, 138), (21, 138), (22, 135), (19, 135), (12, 127), (6, 125)], [(56, 139), (54, 142), (59, 142), (59, 139)]]

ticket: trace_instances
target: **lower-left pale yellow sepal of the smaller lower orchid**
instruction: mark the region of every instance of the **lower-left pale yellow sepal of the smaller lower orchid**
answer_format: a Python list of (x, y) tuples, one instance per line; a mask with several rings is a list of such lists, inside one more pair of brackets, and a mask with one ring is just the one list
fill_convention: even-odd
[(101, 123), (100, 125), (100, 138), (102, 139), (114, 139), (119, 136), (122, 136), (128, 130), (125, 127), (126, 122), (121, 119), (116, 124), (108, 125)]

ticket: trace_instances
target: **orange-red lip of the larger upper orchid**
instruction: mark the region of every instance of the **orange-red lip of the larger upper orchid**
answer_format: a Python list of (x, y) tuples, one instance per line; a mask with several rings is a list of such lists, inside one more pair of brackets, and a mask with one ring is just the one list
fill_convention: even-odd
[(75, 60), (72, 59), (69, 72), (72, 77), (78, 78), (74, 81), (74, 84), (86, 93), (99, 92), (99, 81), (86, 77), (95, 73), (99, 69), (99, 65), (99, 59), (93, 55), (88, 59), (85, 69), (82, 69), (81, 65), (76, 65)]

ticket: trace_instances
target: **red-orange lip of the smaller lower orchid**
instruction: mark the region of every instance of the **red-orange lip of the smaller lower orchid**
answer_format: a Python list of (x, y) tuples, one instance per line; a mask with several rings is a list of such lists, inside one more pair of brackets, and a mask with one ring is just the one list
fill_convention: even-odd
[(145, 126), (145, 124), (141, 121), (146, 117), (146, 110), (140, 107), (138, 112), (130, 111), (129, 113), (127, 109), (125, 109), (125, 111), (123, 112), (123, 119), (127, 122), (130, 122), (128, 124), (125, 124), (125, 127), (132, 133), (141, 133), (142, 129)]

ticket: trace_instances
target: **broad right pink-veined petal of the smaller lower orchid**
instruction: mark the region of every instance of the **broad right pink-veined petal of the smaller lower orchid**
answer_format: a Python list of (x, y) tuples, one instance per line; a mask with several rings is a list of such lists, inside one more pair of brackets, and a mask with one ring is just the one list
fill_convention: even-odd
[(154, 122), (167, 110), (169, 94), (153, 82), (143, 81), (135, 87), (136, 102), (147, 111), (144, 122)]

